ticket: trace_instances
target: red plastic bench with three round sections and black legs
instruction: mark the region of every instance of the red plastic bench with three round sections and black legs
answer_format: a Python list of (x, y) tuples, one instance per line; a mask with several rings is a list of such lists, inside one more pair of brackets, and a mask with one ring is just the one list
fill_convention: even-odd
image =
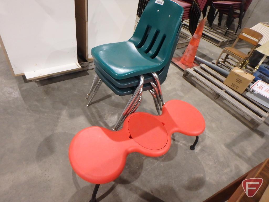
[(198, 137), (204, 129), (204, 118), (194, 106), (170, 100), (164, 104), (160, 116), (130, 114), (119, 131), (97, 126), (81, 130), (70, 143), (69, 160), (77, 175), (96, 184), (92, 202), (96, 201), (99, 184), (119, 177), (128, 154), (161, 156), (169, 150), (173, 133)]

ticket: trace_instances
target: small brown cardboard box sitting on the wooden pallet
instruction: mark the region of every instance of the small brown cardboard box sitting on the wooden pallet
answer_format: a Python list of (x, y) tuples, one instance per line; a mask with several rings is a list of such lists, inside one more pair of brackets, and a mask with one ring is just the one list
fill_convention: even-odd
[(246, 90), (247, 86), (254, 78), (255, 76), (235, 67), (225, 79), (224, 84), (241, 94)]

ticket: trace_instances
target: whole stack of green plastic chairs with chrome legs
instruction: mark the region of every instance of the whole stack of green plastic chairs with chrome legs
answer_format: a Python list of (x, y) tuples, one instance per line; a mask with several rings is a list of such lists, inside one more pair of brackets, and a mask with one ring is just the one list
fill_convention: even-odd
[(133, 95), (114, 130), (136, 111), (145, 90), (150, 91), (156, 110), (161, 113), (164, 105), (161, 84), (167, 77), (179, 39), (182, 14), (183, 8), (171, 0), (150, 0), (131, 39), (91, 50), (96, 75), (86, 97), (87, 106), (102, 82), (117, 95)]

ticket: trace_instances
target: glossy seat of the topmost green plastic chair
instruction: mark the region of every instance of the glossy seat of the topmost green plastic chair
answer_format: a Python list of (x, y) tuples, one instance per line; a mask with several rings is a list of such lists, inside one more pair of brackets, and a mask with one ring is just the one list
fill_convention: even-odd
[(99, 67), (115, 79), (154, 72), (161, 65), (158, 58), (144, 57), (130, 41), (97, 46), (92, 49), (91, 54)]

